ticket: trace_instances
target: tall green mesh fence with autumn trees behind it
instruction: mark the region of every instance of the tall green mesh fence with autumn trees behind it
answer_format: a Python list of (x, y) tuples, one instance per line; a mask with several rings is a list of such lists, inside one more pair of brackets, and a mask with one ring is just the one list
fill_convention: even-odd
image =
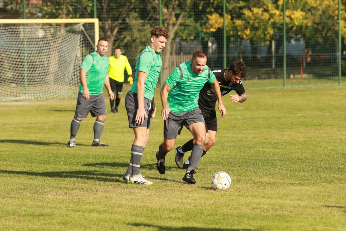
[[(110, 41), (107, 56), (120, 46), (133, 68), (150, 29), (162, 24), (171, 34), (162, 52), (162, 80), (202, 49), (211, 67), (227, 68), (242, 59), (247, 85), (262, 88), (341, 84), (342, 73), (346, 75), (342, 3), (346, 1), (4, 0), (0, 16), (98, 18), (100, 37)], [(85, 44), (85, 54), (94, 50)]]

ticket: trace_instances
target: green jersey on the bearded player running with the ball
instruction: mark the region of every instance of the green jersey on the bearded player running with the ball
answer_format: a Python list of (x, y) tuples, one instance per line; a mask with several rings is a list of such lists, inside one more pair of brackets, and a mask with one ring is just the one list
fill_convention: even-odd
[(212, 83), (215, 80), (215, 74), (209, 67), (203, 70), (201, 74), (194, 74), (191, 70), (191, 62), (185, 62), (178, 65), (166, 83), (172, 89), (168, 93), (167, 103), (172, 112), (189, 112), (198, 107), (199, 92), (207, 81)]

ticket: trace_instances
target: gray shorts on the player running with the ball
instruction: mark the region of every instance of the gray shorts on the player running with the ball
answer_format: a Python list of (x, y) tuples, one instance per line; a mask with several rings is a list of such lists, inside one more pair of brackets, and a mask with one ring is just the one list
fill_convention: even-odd
[(183, 125), (189, 128), (191, 124), (197, 122), (205, 123), (199, 107), (190, 112), (170, 112), (163, 126), (163, 137), (167, 140), (176, 139), (176, 136), (180, 135)]

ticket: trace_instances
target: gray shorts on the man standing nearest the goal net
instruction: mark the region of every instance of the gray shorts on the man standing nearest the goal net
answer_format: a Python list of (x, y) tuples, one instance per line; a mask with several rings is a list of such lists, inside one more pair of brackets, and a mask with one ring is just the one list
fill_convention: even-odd
[(106, 115), (106, 101), (104, 101), (103, 93), (100, 95), (90, 96), (88, 100), (84, 99), (83, 94), (78, 92), (76, 112), (74, 117), (76, 118), (86, 118), (88, 114), (92, 117), (98, 115)]

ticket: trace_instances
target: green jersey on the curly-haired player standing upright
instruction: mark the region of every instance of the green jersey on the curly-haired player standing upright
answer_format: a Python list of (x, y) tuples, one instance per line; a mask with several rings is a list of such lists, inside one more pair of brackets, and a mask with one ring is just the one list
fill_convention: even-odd
[(144, 81), (144, 97), (153, 100), (154, 90), (157, 85), (158, 74), (160, 74), (161, 67), (162, 60), (160, 53), (155, 53), (153, 49), (147, 45), (138, 56), (135, 68), (135, 79), (130, 91), (137, 93), (138, 71), (145, 72), (148, 76)]

